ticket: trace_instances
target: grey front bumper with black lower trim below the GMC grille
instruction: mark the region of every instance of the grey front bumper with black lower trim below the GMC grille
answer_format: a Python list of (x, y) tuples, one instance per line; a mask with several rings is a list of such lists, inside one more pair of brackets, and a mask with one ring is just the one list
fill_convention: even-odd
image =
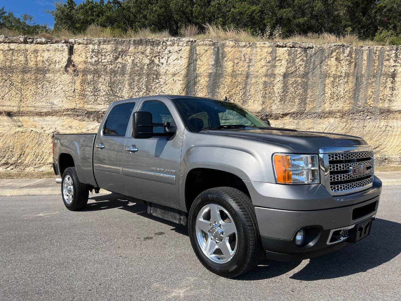
[[(356, 225), (375, 216), (381, 193), (381, 181), (376, 177), (373, 187), (338, 197), (331, 196), (322, 185), (312, 189), (315, 192), (313, 195), (308, 195), (308, 192), (311, 192), (308, 185), (275, 186), (278, 186), (276, 190), (279, 190), (283, 197), (282, 204), (285, 209), (277, 208), (279, 195), (274, 190), (260, 189), (260, 183), (251, 185), (248, 189), (253, 202), (255, 199), (255, 214), (266, 255), (271, 259), (284, 261), (312, 258), (347, 246), (347, 239), (329, 243), (331, 230)], [(283, 189), (287, 191), (283, 193)], [(320, 203), (319, 197), (322, 197)], [(315, 204), (319, 203), (316, 209), (311, 208), (309, 200)], [(330, 207), (322, 209), (324, 202)], [(295, 209), (289, 209), (290, 207)], [(297, 246), (295, 236), (300, 229), (305, 229), (306, 243)]]

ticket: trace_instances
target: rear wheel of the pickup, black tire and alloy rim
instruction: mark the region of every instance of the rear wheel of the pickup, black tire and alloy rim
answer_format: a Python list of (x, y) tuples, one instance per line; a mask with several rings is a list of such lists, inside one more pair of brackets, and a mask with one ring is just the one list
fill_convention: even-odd
[(61, 181), (61, 195), (65, 207), (71, 211), (86, 207), (89, 189), (86, 184), (79, 182), (75, 167), (65, 169)]

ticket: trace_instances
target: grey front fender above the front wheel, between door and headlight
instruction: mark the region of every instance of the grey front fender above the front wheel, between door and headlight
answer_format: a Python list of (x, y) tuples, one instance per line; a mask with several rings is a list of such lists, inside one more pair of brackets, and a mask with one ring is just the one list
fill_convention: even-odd
[(271, 155), (291, 148), (253, 138), (185, 131), (180, 168), (180, 204), (185, 208), (185, 181), (192, 169), (232, 173), (243, 181), (275, 183)]

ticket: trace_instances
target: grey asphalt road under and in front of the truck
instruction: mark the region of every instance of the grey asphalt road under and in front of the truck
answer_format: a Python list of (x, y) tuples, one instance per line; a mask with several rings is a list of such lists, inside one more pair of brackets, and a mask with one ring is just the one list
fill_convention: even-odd
[(0, 197), (0, 299), (400, 300), (400, 194), (384, 187), (359, 244), (302, 262), (265, 259), (239, 279), (203, 268), (186, 227), (119, 195), (90, 195), (82, 212), (60, 196)]

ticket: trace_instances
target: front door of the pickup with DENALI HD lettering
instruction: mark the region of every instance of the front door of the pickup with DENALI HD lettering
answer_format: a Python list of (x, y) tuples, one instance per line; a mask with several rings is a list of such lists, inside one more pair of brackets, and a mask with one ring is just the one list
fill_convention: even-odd
[[(172, 106), (172, 104), (170, 104)], [(173, 109), (173, 108), (171, 108)], [(166, 103), (145, 100), (140, 111), (150, 112), (154, 123), (170, 122), (176, 126)], [(176, 113), (174, 111), (174, 113)], [(178, 118), (178, 116), (176, 117)], [(163, 127), (153, 128), (163, 133)], [(169, 207), (180, 208), (178, 198), (182, 132), (172, 137), (132, 137), (132, 122), (124, 150), (124, 191), (126, 195)]]

